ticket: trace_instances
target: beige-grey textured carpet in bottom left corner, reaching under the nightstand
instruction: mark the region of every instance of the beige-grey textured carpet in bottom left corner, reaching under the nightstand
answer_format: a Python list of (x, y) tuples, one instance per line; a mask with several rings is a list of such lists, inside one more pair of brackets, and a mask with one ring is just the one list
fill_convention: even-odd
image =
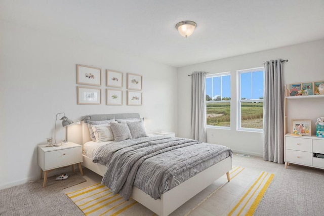
[(55, 178), (49, 177), (45, 188), (43, 180), (37, 180), (0, 190), (0, 215), (84, 215), (62, 189), (86, 180), (78, 172), (66, 180)]

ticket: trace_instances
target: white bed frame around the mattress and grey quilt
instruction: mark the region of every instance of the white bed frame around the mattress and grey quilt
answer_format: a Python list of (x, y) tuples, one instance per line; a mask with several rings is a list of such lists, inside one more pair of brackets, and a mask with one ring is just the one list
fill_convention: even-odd
[[(138, 113), (131, 114), (136, 115), (135, 118), (139, 117)], [(96, 116), (98, 117), (100, 115), (91, 115), (91, 120), (108, 120), (111, 118), (96, 119)], [(129, 117), (130, 114), (126, 114), (126, 116)], [(82, 124), (82, 132), (82, 143), (85, 144), (86, 142), (91, 141), (87, 123)], [(96, 172), (100, 176), (103, 176), (106, 170), (106, 166), (92, 162), (92, 159), (85, 155), (83, 155), (82, 165)], [(215, 165), (205, 169), (204, 171), (199, 172), (199, 174), (191, 177), (190, 179), (174, 187), (173, 189), (163, 193), (161, 197), (156, 200), (136, 187), (133, 187), (131, 197), (151, 211), (155, 212), (157, 215), (167, 216), (178, 207), (180, 207), (183, 203), (195, 196), (197, 193), (211, 185), (224, 174), (226, 174), (227, 181), (229, 182), (229, 170), (231, 169), (232, 159), (230, 157), (227, 157), (226, 159), (216, 163)]]

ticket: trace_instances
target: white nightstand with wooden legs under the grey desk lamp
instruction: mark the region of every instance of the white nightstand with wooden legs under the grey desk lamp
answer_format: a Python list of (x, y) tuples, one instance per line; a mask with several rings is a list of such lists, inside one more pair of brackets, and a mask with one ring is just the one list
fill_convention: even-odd
[(68, 142), (57, 147), (38, 146), (37, 160), (38, 165), (42, 168), (41, 179), (43, 171), (45, 171), (43, 187), (46, 186), (48, 172), (56, 168), (73, 165), (74, 172), (74, 164), (78, 163), (80, 173), (83, 175), (81, 167), (81, 162), (83, 162), (82, 145)]

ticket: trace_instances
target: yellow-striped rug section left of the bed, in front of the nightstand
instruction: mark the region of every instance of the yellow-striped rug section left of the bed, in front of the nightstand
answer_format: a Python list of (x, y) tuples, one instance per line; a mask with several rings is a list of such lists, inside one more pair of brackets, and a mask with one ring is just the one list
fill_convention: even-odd
[(112, 195), (101, 183), (66, 194), (85, 215), (154, 215), (154, 212), (130, 199)]

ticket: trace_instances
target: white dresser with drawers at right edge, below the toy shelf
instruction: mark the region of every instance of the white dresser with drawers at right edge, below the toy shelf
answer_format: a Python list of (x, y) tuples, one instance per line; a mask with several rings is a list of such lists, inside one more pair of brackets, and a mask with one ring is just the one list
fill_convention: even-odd
[(312, 136), (285, 136), (285, 168), (290, 163), (324, 169), (324, 138)]

